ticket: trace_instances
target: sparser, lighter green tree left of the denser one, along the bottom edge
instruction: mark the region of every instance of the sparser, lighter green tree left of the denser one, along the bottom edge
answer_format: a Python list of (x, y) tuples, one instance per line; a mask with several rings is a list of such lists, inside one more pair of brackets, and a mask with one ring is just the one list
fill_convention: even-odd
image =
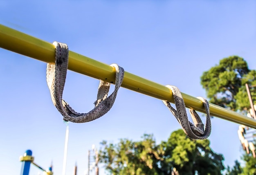
[(142, 141), (120, 139), (118, 144), (102, 141), (99, 151), (100, 162), (113, 175), (161, 175), (158, 162), (161, 150), (153, 135), (145, 134)]

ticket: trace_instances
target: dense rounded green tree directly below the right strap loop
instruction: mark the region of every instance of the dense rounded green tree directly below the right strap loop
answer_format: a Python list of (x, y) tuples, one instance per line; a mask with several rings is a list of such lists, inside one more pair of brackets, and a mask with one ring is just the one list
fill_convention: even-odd
[(175, 167), (181, 175), (221, 175), (225, 169), (223, 156), (211, 150), (208, 139), (192, 140), (183, 130), (177, 130), (161, 145), (164, 150), (161, 162), (164, 174), (170, 174), (171, 167)]

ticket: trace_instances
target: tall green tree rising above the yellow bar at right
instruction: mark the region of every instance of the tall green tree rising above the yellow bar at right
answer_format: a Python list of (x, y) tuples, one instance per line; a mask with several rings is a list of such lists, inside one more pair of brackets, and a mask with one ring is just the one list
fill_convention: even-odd
[[(234, 111), (250, 108), (245, 88), (256, 84), (256, 71), (249, 70), (247, 62), (239, 56), (229, 56), (220, 60), (218, 65), (203, 72), (201, 84), (207, 92), (209, 102)], [(252, 90), (253, 91), (253, 90)], [(252, 92), (256, 100), (256, 92)]]

